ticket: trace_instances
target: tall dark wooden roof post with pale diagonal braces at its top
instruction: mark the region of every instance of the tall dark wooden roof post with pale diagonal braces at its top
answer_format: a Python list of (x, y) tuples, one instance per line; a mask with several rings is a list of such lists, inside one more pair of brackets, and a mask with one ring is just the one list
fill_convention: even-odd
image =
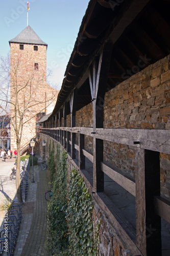
[(93, 61), (92, 79), (89, 70), (89, 83), (93, 102), (93, 189), (104, 191), (104, 173), (100, 162), (103, 161), (103, 140), (95, 138), (96, 128), (103, 128), (103, 103), (110, 66), (112, 44), (108, 42), (101, 49), (99, 62)]

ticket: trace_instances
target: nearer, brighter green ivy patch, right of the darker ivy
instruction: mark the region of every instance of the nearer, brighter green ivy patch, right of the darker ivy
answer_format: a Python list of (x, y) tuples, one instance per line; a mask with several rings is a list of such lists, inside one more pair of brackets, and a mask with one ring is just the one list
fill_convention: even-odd
[(98, 255), (93, 242), (92, 199), (76, 168), (70, 174), (66, 219), (69, 226), (68, 255)]

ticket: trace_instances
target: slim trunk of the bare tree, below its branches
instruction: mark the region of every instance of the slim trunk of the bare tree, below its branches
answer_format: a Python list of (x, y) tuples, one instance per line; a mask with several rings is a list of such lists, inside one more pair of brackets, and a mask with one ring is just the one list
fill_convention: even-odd
[(17, 162), (16, 162), (16, 194), (17, 199), (22, 201), (22, 193), (20, 187), (20, 142), (17, 143)]

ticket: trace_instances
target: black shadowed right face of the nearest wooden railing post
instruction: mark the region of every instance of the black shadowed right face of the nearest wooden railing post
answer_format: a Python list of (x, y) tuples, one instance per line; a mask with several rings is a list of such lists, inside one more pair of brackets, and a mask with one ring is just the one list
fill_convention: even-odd
[(147, 255), (161, 255), (161, 218), (156, 214), (154, 197), (160, 196), (160, 155), (144, 151)]

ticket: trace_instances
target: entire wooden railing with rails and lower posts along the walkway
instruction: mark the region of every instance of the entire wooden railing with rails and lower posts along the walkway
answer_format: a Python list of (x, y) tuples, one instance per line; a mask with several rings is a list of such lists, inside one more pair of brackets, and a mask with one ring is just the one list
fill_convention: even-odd
[[(42, 129), (41, 133), (58, 141), (65, 148), (69, 161), (84, 176), (92, 197), (108, 216), (112, 225), (123, 240), (126, 241), (127, 246), (134, 255), (147, 255), (147, 243), (151, 243), (151, 240), (157, 241), (156, 243), (159, 243), (158, 248), (161, 248), (161, 225), (158, 225), (158, 223), (161, 221), (160, 217), (170, 223), (170, 203), (160, 196), (158, 158), (159, 152), (170, 154), (170, 130), (101, 128), (96, 129), (95, 132), (93, 131), (93, 128), (90, 127), (57, 127)], [(79, 144), (76, 144), (76, 134), (79, 136)], [(85, 135), (93, 137), (93, 155), (84, 148)], [(137, 163), (135, 181), (125, 177), (119, 172), (119, 169), (110, 167), (103, 161), (102, 143), (104, 140), (134, 146)], [(76, 160), (76, 150), (79, 153), (79, 161)], [(100, 156), (102, 157), (100, 158)], [(88, 173), (85, 172), (85, 158), (93, 163), (93, 185), (90, 183)], [(155, 160), (156, 158), (157, 160)], [(150, 166), (151, 163), (153, 165), (152, 168)], [(96, 167), (96, 165), (98, 166)], [(106, 200), (106, 195), (103, 191), (104, 179), (101, 178), (104, 173), (136, 198), (136, 234), (127, 224), (125, 225), (119, 214), (113, 210), (112, 202), (108, 198)], [(100, 185), (98, 184), (99, 179), (101, 179)], [(152, 185), (150, 184), (151, 179)], [(150, 210), (152, 207), (148, 206), (149, 202), (147, 200), (151, 200), (151, 203), (152, 201), (154, 202), (154, 210)], [(149, 241), (146, 229), (150, 223), (147, 223), (147, 218), (152, 220), (152, 228), (157, 227), (156, 234), (153, 233)], [(141, 252), (139, 248), (145, 248), (145, 250), (143, 249)]]

